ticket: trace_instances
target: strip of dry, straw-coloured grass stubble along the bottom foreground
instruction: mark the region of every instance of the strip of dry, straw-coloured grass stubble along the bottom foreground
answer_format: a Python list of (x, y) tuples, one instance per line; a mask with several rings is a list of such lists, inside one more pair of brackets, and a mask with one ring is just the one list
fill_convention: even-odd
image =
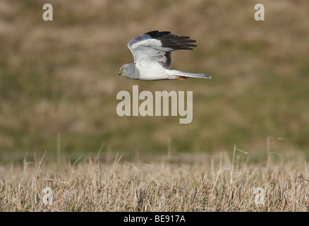
[(265, 153), (258, 162), (236, 147), (232, 156), (135, 157), (98, 153), (71, 162), (44, 154), (2, 165), (0, 211), (309, 210), (309, 171), (301, 153)]

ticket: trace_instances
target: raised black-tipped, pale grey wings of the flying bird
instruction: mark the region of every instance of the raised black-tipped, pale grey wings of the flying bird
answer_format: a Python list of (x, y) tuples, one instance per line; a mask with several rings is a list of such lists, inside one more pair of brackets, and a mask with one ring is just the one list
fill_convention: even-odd
[(178, 36), (169, 31), (159, 32), (154, 30), (133, 38), (128, 42), (134, 62), (143, 63), (159, 62), (165, 68), (171, 67), (171, 52), (178, 49), (190, 49), (197, 47), (195, 40), (190, 40), (188, 36)]

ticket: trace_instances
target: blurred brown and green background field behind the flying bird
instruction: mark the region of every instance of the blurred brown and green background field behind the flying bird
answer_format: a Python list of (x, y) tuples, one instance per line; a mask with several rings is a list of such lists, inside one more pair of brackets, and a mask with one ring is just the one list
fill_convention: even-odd
[[(52, 4), (53, 21), (42, 6)], [(265, 6), (255, 21), (254, 6)], [(150, 30), (198, 40), (173, 54), (173, 69), (211, 80), (134, 81), (118, 76), (133, 62), (127, 43)], [(0, 156), (218, 152), (236, 144), (264, 151), (309, 150), (308, 1), (0, 1)], [(193, 90), (193, 121), (119, 117), (116, 94)]]

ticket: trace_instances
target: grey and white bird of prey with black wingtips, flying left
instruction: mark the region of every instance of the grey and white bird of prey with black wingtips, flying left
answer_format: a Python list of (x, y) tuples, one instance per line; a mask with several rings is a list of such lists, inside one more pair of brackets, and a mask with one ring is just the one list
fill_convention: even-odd
[(212, 78), (203, 73), (190, 73), (171, 69), (171, 53), (178, 49), (193, 50), (198, 47), (188, 36), (178, 36), (169, 31), (153, 30), (128, 42), (134, 63), (123, 64), (119, 76), (138, 80), (186, 80), (186, 78)]

